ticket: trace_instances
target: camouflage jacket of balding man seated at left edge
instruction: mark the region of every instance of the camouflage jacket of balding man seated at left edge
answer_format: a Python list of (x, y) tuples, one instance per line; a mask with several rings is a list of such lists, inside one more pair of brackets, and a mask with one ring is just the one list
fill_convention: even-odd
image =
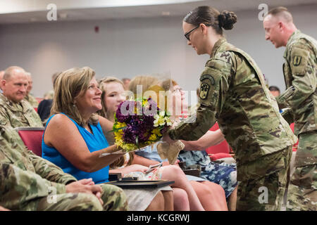
[(41, 118), (30, 103), (25, 100), (13, 103), (4, 94), (0, 94), (0, 117), (6, 118), (6, 122), (13, 128), (43, 127)]

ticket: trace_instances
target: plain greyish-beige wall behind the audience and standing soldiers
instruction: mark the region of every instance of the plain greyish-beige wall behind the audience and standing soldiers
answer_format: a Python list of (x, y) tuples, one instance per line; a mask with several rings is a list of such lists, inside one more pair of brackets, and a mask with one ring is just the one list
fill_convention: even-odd
[[(289, 7), (297, 28), (314, 38), (316, 6)], [(238, 23), (225, 32), (228, 41), (247, 51), (269, 84), (283, 91), (284, 48), (275, 49), (265, 41), (257, 8), (236, 13)], [(20, 65), (31, 72), (32, 93), (39, 97), (52, 88), (54, 72), (86, 65), (97, 72), (97, 77), (170, 73), (184, 89), (194, 91), (209, 56), (197, 56), (187, 46), (181, 24), (182, 18), (150, 18), (1, 25), (0, 70)], [(99, 33), (94, 32), (96, 25)]]

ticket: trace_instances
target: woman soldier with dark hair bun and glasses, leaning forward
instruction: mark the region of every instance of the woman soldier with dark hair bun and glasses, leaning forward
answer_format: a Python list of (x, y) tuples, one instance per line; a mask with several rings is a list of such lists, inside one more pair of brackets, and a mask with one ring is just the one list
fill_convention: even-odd
[[(237, 210), (280, 210), (287, 168), (296, 137), (278, 111), (263, 75), (247, 53), (228, 44), (237, 15), (199, 6), (182, 28), (197, 54), (209, 54), (200, 77), (197, 116), (163, 140), (197, 140), (218, 121), (237, 161)], [(172, 139), (172, 140), (171, 140)]]

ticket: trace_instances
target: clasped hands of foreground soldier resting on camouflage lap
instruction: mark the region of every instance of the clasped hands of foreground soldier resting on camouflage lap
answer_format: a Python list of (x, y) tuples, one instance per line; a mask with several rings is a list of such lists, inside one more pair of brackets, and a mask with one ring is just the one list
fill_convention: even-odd
[(66, 193), (89, 193), (96, 195), (101, 205), (104, 205), (104, 202), (101, 200), (102, 188), (94, 184), (91, 178), (81, 179), (80, 181), (66, 185)]

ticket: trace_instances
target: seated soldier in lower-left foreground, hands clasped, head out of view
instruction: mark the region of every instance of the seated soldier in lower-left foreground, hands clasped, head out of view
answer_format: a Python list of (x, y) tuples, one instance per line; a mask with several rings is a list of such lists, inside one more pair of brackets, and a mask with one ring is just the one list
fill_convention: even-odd
[(0, 117), (0, 205), (8, 210), (127, 210), (122, 189), (76, 179), (27, 151)]

